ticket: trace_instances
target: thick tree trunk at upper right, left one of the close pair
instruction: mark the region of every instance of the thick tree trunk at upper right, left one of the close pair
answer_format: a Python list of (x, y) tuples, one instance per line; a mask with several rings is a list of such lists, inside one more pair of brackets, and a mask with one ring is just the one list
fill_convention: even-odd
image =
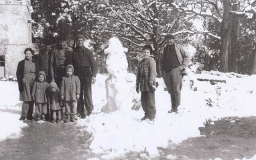
[(229, 39), (231, 38), (231, 9), (229, 0), (223, 0), (223, 19), (220, 26), (220, 71), (229, 72)]

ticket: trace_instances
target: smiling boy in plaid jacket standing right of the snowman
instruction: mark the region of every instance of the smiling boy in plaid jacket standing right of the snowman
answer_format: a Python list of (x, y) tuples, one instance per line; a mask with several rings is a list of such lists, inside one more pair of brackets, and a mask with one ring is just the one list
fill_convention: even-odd
[(139, 62), (138, 72), (136, 78), (136, 91), (141, 91), (141, 106), (145, 112), (145, 116), (141, 121), (147, 120), (149, 124), (154, 123), (155, 119), (155, 76), (156, 64), (155, 60), (151, 58), (153, 50), (151, 46), (145, 45), (143, 47), (143, 60)]

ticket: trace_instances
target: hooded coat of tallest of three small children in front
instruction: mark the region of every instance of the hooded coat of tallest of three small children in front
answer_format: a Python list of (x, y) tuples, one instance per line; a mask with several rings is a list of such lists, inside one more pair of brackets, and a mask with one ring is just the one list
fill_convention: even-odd
[[(68, 65), (72, 66), (72, 65)], [(74, 72), (74, 68), (73, 68)], [(78, 76), (64, 76), (62, 77), (62, 84), (60, 87), (60, 95), (64, 96), (65, 101), (77, 100), (76, 95), (80, 95), (80, 80)]]

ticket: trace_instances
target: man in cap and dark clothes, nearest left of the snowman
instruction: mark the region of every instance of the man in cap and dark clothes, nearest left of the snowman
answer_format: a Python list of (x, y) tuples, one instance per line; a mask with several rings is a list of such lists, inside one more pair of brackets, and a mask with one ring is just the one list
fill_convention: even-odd
[[(96, 82), (97, 63), (92, 52), (84, 47), (84, 35), (76, 35), (76, 49), (72, 52), (74, 75), (80, 79), (80, 100), (77, 112), (81, 118), (89, 116), (93, 110), (92, 84)], [(84, 108), (85, 106), (85, 108)]]

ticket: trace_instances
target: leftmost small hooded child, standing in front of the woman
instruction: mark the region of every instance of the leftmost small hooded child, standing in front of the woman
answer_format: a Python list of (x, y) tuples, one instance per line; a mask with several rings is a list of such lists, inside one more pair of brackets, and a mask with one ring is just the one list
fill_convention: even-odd
[(38, 74), (38, 82), (34, 82), (31, 93), (31, 98), (36, 103), (36, 121), (46, 121), (45, 114), (47, 113), (47, 90), (49, 84), (46, 82), (46, 74), (40, 71)]

